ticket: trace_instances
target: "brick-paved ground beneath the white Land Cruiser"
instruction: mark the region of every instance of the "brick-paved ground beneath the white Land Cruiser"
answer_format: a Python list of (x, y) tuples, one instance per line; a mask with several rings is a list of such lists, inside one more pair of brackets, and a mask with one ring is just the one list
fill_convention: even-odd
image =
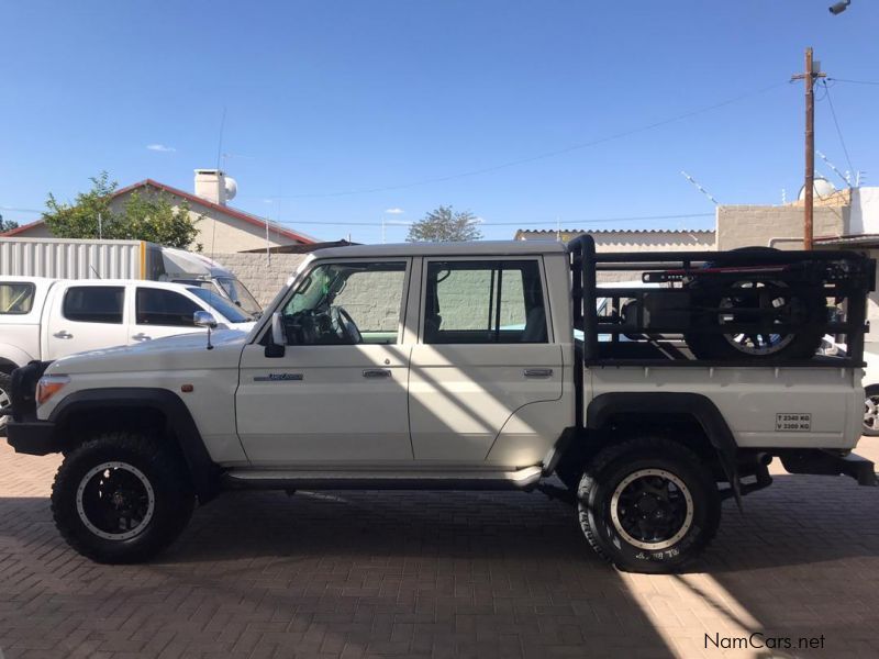
[[(56, 465), (0, 443), (7, 659), (879, 656), (879, 490), (848, 479), (780, 473), (687, 573), (644, 577), (520, 493), (230, 494), (159, 560), (98, 566), (52, 524)], [(705, 647), (752, 632), (824, 648)]]

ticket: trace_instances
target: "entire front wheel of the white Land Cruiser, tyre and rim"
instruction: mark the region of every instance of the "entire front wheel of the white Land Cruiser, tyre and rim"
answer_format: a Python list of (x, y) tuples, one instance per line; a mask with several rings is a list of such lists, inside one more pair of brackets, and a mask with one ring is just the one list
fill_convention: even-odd
[(76, 447), (52, 488), (64, 539), (107, 563), (153, 558), (183, 529), (194, 501), (176, 447), (136, 433), (108, 433)]

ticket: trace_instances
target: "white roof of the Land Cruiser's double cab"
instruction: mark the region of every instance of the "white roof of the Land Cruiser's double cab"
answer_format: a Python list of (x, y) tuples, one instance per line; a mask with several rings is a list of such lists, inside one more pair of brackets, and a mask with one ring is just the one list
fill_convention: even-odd
[(556, 241), (474, 241), (468, 243), (397, 243), (392, 245), (348, 245), (315, 249), (314, 258), (358, 258), (394, 256), (522, 256), (564, 254)]

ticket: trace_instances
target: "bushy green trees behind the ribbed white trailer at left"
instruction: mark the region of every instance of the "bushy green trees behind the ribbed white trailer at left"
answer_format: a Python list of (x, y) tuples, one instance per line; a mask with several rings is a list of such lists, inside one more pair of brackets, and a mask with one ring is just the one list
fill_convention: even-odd
[(173, 203), (164, 192), (143, 194), (132, 192), (121, 209), (113, 210), (111, 201), (119, 185), (102, 171), (90, 179), (88, 192), (76, 196), (74, 203), (58, 203), (49, 192), (47, 212), (43, 214), (49, 231), (59, 238), (109, 238), (149, 241), (168, 247), (187, 248), (199, 230), (186, 201)]

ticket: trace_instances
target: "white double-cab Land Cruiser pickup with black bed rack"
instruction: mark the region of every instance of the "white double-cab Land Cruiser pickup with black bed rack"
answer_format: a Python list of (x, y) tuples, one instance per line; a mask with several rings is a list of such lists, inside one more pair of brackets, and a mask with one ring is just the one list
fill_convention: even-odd
[[(664, 572), (774, 458), (876, 483), (850, 454), (872, 261), (644, 258), (588, 236), (319, 250), (248, 335), (18, 369), (9, 443), (64, 454), (56, 525), (105, 562), (156, 555), (224, 489), (519, 489), (575, 504), (620, 568)], [(598, 277), (625, 269), (667, 286), (602, 288), (599, 313)], [(813, 356), (839, 332), (846, 357)]]

